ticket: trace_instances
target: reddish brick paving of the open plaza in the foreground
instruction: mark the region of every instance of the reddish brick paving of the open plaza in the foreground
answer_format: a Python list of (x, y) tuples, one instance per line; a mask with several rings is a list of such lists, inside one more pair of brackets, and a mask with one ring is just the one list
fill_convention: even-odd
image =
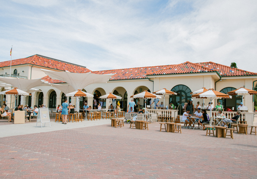
[(158, 123), (149, 131), (104, 124), (2, 137), (0, 178), (257, 178), (250, 128), (234, 140), (159, 130)]

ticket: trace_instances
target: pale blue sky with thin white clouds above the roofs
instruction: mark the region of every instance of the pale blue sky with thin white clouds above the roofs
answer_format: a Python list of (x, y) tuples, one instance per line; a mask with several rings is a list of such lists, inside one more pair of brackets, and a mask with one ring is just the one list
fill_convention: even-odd
[(212, 61), (257, 72), (256, 0), (0, 1), (0, 61), (35, 54), (89, 70)]

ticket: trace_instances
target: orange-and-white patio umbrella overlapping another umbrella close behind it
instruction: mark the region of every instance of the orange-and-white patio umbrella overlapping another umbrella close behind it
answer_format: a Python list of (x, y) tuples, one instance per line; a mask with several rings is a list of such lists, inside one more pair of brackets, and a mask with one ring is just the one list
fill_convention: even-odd
[[(226, 99), (226, 98), (232, 98), (232, 96), (224, 94), (222, 92), (215, 91), (212, 88), (212, 89), (209, 89), (208, 91), (192, 95), (192, 98), (208, 98), (208, 99), (211, 100), (211, 103), (212, 103), (213, 99), (221, 99), (221, 98), (225, 98)], [(212, 108), (211, 108), (211, 116), (210, 116), (210, 118), (211, 117), (212, 117)]]

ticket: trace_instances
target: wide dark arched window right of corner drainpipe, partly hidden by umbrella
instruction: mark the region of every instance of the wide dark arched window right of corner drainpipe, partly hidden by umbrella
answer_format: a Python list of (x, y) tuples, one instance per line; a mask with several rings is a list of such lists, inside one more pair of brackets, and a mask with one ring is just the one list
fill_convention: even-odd
[[(220, 92), (227, 94), (227, 92), (236, 90), (236, 88), (233, 87), (226, 87), (223, 88)], [(220, 102), (221, 105), (223, 105), (224, 109), (232, 109), (232, 107), (234, 107), (234, 109), (236, 109), (237, 106), (240, 105), (240, 103), (242, 102), (242, 96), (240, 95), (232, 95), (231, 99), (218, 99), (217, 102)]]

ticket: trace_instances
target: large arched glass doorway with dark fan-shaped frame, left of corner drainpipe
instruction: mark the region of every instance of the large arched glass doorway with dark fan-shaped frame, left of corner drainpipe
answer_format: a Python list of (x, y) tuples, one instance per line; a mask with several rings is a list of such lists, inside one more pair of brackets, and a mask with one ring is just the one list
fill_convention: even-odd
[(175, 108), (177, 109), (178, 107), (178, 114), (182, 115), (183, 114), (183, 106), (185, 103), (189, 102), (189, 99), (191, 98), (192, 95), (190, 95), (190, 90), (189, 87), (183, 84), (179, 84), (171, 89), (171, 91), (176, 92), (177, 95), (170, 95), (169, 96), (169, 102), (172, 101), (172, 104), (174, 104)]

